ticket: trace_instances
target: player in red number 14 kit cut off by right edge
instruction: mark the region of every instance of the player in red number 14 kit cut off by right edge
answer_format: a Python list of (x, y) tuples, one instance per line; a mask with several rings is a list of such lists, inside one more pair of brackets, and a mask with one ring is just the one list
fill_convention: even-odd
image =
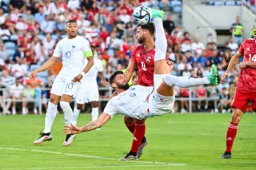
[(256, 112), (256, 26), (254, 26), (254, 38), (248, 38), (242, 42), (238, 53), (231, 58), (226, 72), (222, 75), (222, 82), (226, 82), (226, 77), (242, 56), (243, 61), (239, 64), (241, 73), (238, 79), (237, 91), (231, 104), (232, 118), (226, 132), (226, 152), (220, 157), (224, 159), (231, 158), (238, 124), (249, 101), (252, 102), (252, 108)]

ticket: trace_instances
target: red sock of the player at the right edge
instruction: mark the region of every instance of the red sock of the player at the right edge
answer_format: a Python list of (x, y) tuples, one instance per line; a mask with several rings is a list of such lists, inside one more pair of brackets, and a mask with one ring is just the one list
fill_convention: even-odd
[(230, 122), (226, 132), (226, 152), (231, 152), (234, 138), (237, 136), (238, 124)]

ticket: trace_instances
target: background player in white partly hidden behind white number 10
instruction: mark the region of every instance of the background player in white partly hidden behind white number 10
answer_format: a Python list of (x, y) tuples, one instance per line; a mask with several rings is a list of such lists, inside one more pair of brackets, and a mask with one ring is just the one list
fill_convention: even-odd
[[(103, 76), (103, 64), (100, 59), (98, 59), (98, 47), (99, 44), (96, 42), (91, 42), (91, 49), (94, 52), (94, 65), (90, 69), (86, 76), (82, 78), (81, 85), (78, 89), (78, 92), (75, 97), (75, 101), (77, 105), (74, 107), (74, 116), (72, 125), (77, 125), (78, 115), (81, 112), (82, 105), (85, 103), (89, 103), (91, 105), (91, 118), (92, 121), (97, 120), (98, 118), (98, 84), (97, 84), (97, 75), (101, 80), (102, 85), (108, 85), (109, 83), (106, 81)], [(88, 61), (85, 62), (87, 65)], [(71, 136), (71, 139), (74, 139), (74, 136)], [(72, 142), (70, 140), (70, 143)]]

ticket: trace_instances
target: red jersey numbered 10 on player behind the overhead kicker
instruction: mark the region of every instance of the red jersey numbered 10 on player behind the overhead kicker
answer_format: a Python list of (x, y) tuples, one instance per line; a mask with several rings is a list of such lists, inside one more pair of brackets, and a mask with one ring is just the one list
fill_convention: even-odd
[(138, 85), (154, 85), (154, 54), (155, 48), (146, 50), (144, 45), (134, 47), (130, 61), (138, 67)]

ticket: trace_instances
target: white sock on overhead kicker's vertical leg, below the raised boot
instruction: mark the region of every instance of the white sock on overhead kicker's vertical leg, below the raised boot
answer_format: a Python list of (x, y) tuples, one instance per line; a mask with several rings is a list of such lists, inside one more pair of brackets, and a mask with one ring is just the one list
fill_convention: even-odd
[(167, 40), (165, 30), (163, 29), (162, 19), (154, 19), (155, 26), (155, 55), (154, 61), (163, 60), (166, 58)]

